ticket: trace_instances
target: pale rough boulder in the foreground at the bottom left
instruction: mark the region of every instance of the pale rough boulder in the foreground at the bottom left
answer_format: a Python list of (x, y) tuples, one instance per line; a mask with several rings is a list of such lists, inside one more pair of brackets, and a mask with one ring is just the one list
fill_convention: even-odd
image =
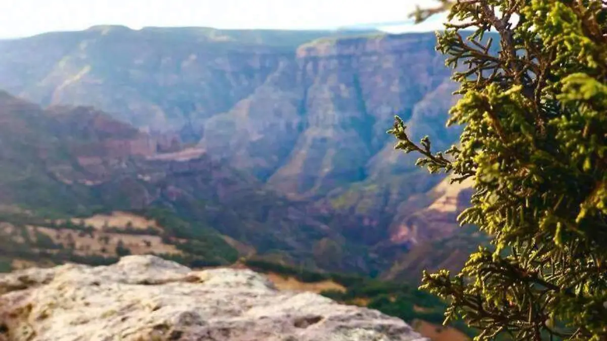
[(192, 271), (154, 256), (0, 276), (0, 340), (424, 341), (402, 320), (250, 270)]

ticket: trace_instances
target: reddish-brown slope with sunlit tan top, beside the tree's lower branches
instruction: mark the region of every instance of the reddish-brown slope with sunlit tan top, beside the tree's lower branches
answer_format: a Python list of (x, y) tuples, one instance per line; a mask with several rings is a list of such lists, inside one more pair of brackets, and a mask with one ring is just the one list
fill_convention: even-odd
[(399, 205), (389, 230), (392, 245), (409, 245), (382, 274), (387, 280), (415, 282), (422, 271), (459, 271), (478, 245), (489, 238), (475, 226), (460, 227), (457, 216), (470, 204), (472, 183), (450, 184), (446, 178), (431, 191)]

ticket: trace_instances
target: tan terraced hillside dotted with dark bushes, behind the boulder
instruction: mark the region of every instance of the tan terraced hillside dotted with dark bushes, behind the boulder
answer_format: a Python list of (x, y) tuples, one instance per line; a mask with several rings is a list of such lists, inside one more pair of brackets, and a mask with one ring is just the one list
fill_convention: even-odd
[(4, 269), (15, 261), (107, 265), (129, 254), (156, 254), (202, 267), (228, 265), (239, 256), (222, 235), (203, 226), (194, 228), (171, 212), (151, 209), (137, 214), (70, 220), (4, 214), (0, 216)]

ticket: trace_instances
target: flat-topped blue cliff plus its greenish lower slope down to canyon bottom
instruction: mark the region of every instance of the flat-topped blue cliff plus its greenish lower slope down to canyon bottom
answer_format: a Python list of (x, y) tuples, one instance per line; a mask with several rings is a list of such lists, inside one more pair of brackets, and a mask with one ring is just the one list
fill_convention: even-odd
[[(320, 39), (297, 49), (229, 112), (206, 121), (200, 146), (249, 170), (352, 240), (392, 238), (399, 205), (441, 178), (419, 172), (415, 156), (393, 150), (393, 116), (412, 137), (448, 147), (456, 89), (431, 34)], [(451, 217), (451, 215), (450, 215)]]

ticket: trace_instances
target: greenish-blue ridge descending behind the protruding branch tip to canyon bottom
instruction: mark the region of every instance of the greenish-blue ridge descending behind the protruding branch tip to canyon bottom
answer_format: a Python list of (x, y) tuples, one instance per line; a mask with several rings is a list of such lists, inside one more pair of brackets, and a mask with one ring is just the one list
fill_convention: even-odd
[[(458, 129), (446, 129), (446, 112), (455, 98), (448, 94), (454, 88), (446, 81), (424, 99), (415, 104), (407, 119), (413, 139), (424, 135), (433, 137), (434, 148), (442, 149), (455, 140)], [(394, 141), (387, 140), (384, 147), (367, 163), (368, 176), (349, 186), (333, 189), (316, 201), (313, 209), (330, 220), (330, 226), (344, 235), (379, 243), (383, 254), (393, 252), (391, 226), (398, 223), (403, 208), (422, 208), (431, 201), (424, 194), (438, 184), (441, 175), (429, 175), (415, 166), (415, 155), (395, 152)], [(426, 228), (427, 226), (424, 226)], [(383, 241), (389, 241), (384, 243)], [(398, 244), (398, 243), (397, 243)], [(390, 247), (388, 247), (390, 246)]]

